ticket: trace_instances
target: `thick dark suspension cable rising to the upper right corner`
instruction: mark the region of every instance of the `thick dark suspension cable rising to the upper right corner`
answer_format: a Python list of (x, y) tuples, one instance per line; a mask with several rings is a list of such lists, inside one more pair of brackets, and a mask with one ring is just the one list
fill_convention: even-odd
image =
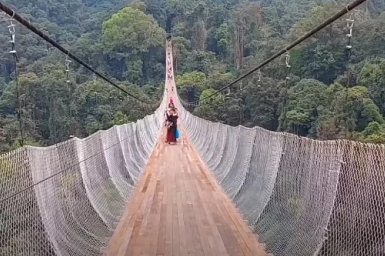
[(336, 14), (330, 16), (328, 19), (324, 20), (324, 22), (322, 22), (320, 25), (318, 25), (317, 27), (313, 28), (311, 31), (307, 32), (306, 34), (304, 34), (303, 36), (297, 38), (295, 41), (293, 41), (291, 44), (287, 45), (285, 48), (283, 48), (282, 50), (280, 50), (279, 52), (277, 52), (276, 54), (274, 54), (273, 56), (269, 57), (268, 59), (266, 59), (265, 61), (263, 61), (260, 65), (258, 65), (257, 67), (255, 67), (254, 69), (252, 70), (249, 70), (247, 73), (245, 73), (244, 75), (238, 77), (237, 79), (235, 79), (234, 81), (230, 82), (229, 84), (227, 84), (227, 86), (225, 87), (222, 87), (221, 89), (219, 89), (218, 91), (216, 91), (215, 93), (212, 93), (210, 95), (207, 95), (206, 97), (202, 98), (202, 99), (199, 99), (199, 100), (196, 100), (196, 101), (185, 101), (186, 103), (198, 103), (200, 101), (203, 101), (205, 99), (208, 99), (208, 98), (211, 98), (215, 95), (217, 95), (218, 93), (224, 91), (225, 89), (229, 88), (230, 86), (233, 86), (233, 84), (239, 82), (240, 80), (242, 80), (243, 78), (251, 75), (252, 73), (256, 72), (257, 70), (261, 69), (263, 66), (267, 65), (269, 62), (272, 62), (273, 60), (275, 60), (276, 58), (278, 58), (279, 56), (281, 56), (282, 54), (284, 54), (285, 52), (288, 52), (290, 49), (294, 48), (295, 46), (299, 45), (302, 41), (306, 40), (307, 38), (311, 37), (312, 35), (314, 35), (315, 33), (317, 33), (318, 31), (320, 31), (321, 29), (325, 28), (326, 26), (332, 24), (333, 22), (335, 22), (337, 19), (339, 19), (340, 17), (342, 17), (343, 15), (347, 14), (348, 12), (350, 12), (351, 10), (353, 10), (354, 8), (356, 8), (357, 6), (361, 5), (362, 3), (364, 3), (365, 1), (367, 0), (356, 0), (356, 1), (353, 1), (352, 3), (348, 4), (345, 8), (341, 9), (339, 12), (337, 12)]

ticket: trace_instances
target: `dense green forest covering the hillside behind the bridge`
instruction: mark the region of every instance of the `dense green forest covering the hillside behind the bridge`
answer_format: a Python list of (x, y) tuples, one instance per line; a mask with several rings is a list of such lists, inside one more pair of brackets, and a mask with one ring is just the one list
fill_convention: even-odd
[[(346, 5), (322, 0), (8, 0), (73, 54), (147, 100), (162, 96), (165, 31), (185, 101), (205, 97)], [(354, 10), (352, 55), (341, 18), (285, 56), (191, 111), (203, 118), (318, 139), (385, 142), (385, 1)], [(346, 17), (348, 18), (348, 17)], [(9, 18), (0, 17), (0, 152), (24, 143), (85, 137), (151, 113), (16, 24), (15, 65)], [(18, 90), (16, 90), (18, 88)], [(348, 88), (348, 89), (347, 89)], [(17, 92), (20, 101), (17, 99)], [(20, 103), (20, 110), (19, 110)]]

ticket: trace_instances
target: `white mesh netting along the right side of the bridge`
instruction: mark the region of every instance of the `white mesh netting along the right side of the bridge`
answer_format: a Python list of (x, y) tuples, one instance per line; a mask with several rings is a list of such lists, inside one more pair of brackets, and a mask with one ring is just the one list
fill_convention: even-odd
[(275, 256), (385, 255), (385, 146), (213, 123), (185, 130)]

